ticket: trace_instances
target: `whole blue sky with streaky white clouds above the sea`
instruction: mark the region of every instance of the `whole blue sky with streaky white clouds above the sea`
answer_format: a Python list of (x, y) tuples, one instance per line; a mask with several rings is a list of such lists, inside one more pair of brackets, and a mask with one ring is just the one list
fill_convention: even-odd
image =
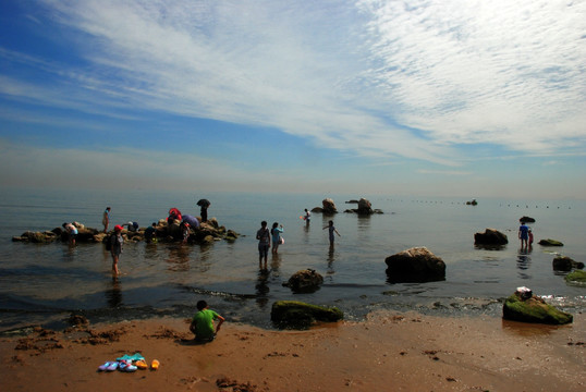
[(0, 184), (586, 199), (585, 0), (3, 0)]

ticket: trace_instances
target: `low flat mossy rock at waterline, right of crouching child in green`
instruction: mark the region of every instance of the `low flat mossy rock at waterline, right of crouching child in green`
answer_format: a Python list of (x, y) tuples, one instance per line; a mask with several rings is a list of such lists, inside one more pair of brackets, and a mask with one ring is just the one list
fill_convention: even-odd
[(335, 322), (344, 318), (337, 307), (325, 307), (298, 301), (277, 301), (272, 304), (270, 319), (279, 328), (306, 329), (316, 321)]

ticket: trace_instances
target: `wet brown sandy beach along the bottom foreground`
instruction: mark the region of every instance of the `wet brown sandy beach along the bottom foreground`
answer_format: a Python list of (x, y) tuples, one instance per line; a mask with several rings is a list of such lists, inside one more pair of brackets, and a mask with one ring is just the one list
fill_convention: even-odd
[[(222, 326), (187, 341), (188, 321), (37, 328), (0, 339), (3, 391), (584, 391), (586, 317), (563, 327), (500, 318), (377, 313), (309, 331)], [(98, 372), (142, 353), (158, 370)]]

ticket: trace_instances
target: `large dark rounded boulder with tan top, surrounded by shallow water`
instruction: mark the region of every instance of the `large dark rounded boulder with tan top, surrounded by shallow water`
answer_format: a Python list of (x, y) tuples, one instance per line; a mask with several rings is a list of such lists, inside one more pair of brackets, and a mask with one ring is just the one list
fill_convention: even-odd
[(432, 282), (445, 279), (445, 264), (426, 247), (413, 247), (384, 259), (391, 283)]

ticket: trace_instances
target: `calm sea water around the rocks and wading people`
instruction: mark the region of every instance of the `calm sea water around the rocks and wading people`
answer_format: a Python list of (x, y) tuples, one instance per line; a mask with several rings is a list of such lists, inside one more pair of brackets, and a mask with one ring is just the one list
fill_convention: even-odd
[[(235, 243), (211, 246), (126, 244), (122, 275), (111, 277), (111, 258), (101, 244), (25, 244), (12, 236), (45, 231), (65, 221), (101, 228), (101, 213), (112, 207), (114, 224), (129, 220), (142, 226), (167, 217), (171, 207), (198, 215), (195, 203), (211, 200), (209, 217), (242, 234)], [(340, 213), (315, 213), (308, 225), (304, 208), (334, 199)], [(383, 215), (359, 218), (344, 201), (368, 198)], [(378, 309), (452, 315), (500, 315), (501, 299), (525, 285), (553, 305), (578, 313), (586, 308), (586, 289), (567, 285), (551, 268), (553, 253), (586, 260), (586, 203), (583, 200), (411, 198), (368, 195), (196, 194), (180, 192), (0, 192), (0, 330), (40, 323), (60, 327), (72, 313), (90, 321), (118, 321), (158, 315), (190, 317), (204, 298), (231, 321), (270, 328), (277, 299), (335, 305), (346, 318), (359, 319)], [(536, 242), (562, 241), (561, 248), (535, 245), (521, 252), (518, 219), (529, 216)], [(333, 219), (341, 234), (330, 249), (327, 225)], [(260, 221), (284, 226), (285, 244), (269, 255), (270, 272), (258, 269), (255, 233)], [(495, 228), (509, 236), (501, 250), (474, 246), (474, 233)], [(426, 246), (447, 264), (441, 282), (387, 282), (384, 258), (413, 246)], [(312, 268), (325, 277), (312, 294), (282, 286), (291, 274)]]

